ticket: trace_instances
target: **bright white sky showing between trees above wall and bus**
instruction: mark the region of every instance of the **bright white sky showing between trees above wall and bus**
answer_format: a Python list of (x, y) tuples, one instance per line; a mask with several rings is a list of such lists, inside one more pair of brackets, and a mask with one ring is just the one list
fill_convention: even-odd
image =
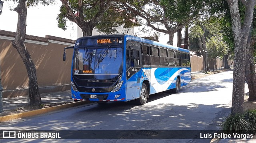
[[(2, 14), (0, 15), (0, 30), (16, 32), (18, 14), (9, 8), (15, 8), (16, 5), (12, 1), (4, 1)], [(61, 2), (57, 0), (55, 5), (28, 8), (26, 34), (39, 37), (51, 35), (76, 40), (76, 24), (67, 22), (68, 28), (66, 31), (58, 27), (56, 18), (59, 14), (60, 6)], [(147, 37), (154, 33), (154, 31), (150, 33), (139, 32), (139, 27), (135, 27), (134, 31), (137, 32), (138, 37)], [(159, 41), (161, 43), (167, 43), (169, 41), (169, 35), (161, 34)], [(175, 41), (177, 40), (174, 38), (174, 45), (176, 45)]]

